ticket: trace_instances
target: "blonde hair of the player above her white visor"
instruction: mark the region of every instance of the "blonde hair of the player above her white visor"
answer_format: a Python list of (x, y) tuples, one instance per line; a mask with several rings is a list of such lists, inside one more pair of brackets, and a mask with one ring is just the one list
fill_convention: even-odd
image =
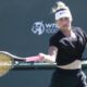
[(55, 5), (52, 8), (52, 13), (55, 13), (58, 10), (69, 10), (69, 7), (66, 7), (66, 4), (62, 1), (58, 1), (55, 3)]

